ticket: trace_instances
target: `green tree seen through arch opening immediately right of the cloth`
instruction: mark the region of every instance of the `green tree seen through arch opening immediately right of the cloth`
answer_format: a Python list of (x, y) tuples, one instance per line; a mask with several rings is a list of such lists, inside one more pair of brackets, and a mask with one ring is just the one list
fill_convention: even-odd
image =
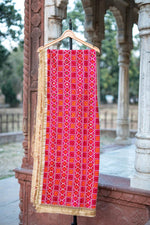
[(107, 94), (118, 97), (118, 50), (116, 48), (117, 25), (113, 14), (107, 11), (105, 15), (105, 39), (102, 41), (100, 60), (100, 90), (101, 101), (105, 102)]

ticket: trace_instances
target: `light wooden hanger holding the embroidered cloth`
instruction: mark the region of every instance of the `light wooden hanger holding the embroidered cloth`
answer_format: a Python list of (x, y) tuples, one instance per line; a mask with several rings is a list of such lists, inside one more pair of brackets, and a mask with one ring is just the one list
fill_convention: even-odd
[(96, 47), (96, 46), (94, 46), (94, 45), (92, 45), (92, 44), (90, 44), (90, 43), (88, 43), (88, 42), (85, 42), (85, 41), (81, 40), (80, 38), (78, 38), (78, 37), (74, 34), (74, 32), (73, 32), (72, 30), (66, 30), (66, 31), (64, 31), (64, 33), (63, 33), (59, 38), (57, 38), (56, 40), (51, 41), (50, 43), (48, 43), (48, 44), (46, 44), (46, 45), (41, 46), (40, 48), (38, 48), (37, 52), (40, 52), (40, 51), (42, 51), (43, 49), (48, 48), (48, 47), (50, 47), (51, 45), (54, 45), (54, 44), (56, 44), (57, 42), (62, 41), (63, 39), (65, 39), (65, 38), (67, 38), (67, 37), (70, 37), (70, 38), (72, 38), (72, 39), (74, 39), (74, 40), (80, 42), (81, 44), (87, 46), (88, 48), (92, 48), (92, 49), (94, 49), (96, 52), (100, 53), (100, 50), (99, 50), (98, 47)]

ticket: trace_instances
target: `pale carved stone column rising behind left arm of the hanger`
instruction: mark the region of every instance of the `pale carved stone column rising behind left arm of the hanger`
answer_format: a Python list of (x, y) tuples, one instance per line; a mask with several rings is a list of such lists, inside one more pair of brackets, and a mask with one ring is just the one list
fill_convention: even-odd
[[(62, 20), (66, 18), (68, 0), (45, 0), (44, 43), (58, 38), (62, 33)], [(52, 48), (59, 48), (60, 42)]]

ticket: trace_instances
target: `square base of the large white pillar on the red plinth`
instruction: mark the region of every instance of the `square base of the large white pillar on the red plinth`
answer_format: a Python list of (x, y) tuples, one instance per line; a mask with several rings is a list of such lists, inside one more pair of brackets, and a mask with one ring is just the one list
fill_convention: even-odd
[(150, 173), (143, 174), (136, 172), (130, 180), (130, 186), (132, 188), (139, 188), (150, 191)]

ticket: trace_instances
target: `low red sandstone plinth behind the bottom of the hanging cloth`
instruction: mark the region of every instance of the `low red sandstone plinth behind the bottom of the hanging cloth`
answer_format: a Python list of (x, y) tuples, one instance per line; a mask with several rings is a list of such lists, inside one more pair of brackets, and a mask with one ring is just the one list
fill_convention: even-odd
[[(31, 170), (18, 170), (21, 224), (71, 225), (72, 216), (36, 213), (30, 203)], [(130, 188), (130, 180), (100, 175), (96, 217), (78, 217), (78, 225), (145, 225), (150, 219), (150, 192)]]

